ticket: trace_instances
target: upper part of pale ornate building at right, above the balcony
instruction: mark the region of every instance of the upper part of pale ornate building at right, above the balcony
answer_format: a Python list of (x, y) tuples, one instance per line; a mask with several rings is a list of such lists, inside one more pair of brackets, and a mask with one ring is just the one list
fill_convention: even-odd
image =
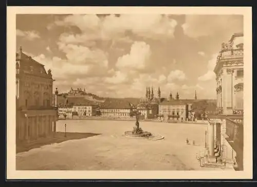
[(216, 100), (222, 114), (243, 112), (243, 46), (243, 33), (233, 34), (228, 44), (222, 44), (217, 56)]

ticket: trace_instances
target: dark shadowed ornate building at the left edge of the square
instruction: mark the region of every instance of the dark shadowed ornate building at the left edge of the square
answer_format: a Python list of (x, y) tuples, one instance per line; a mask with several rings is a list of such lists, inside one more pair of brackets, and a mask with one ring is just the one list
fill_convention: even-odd
[(51, 136), (56, 130), (57, 110), (51, 106), (51, 70), (22, 52), (16, 53), (16, 140)]

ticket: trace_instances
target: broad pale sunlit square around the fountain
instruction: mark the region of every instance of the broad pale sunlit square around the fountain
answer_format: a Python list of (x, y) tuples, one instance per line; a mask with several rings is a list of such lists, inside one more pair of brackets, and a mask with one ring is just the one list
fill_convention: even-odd
[(67, 132), (100, 135), (18, 153), (16, 170), (214, 170), (200, 168), (196, 159), (204, 148), (206, 124), (141, 121), (144, 131), (164, 136), (153, 141), (123, 136), (134, 121), (63, 120), (57, 122), (57, 131), (64, 131), (64, 123)]

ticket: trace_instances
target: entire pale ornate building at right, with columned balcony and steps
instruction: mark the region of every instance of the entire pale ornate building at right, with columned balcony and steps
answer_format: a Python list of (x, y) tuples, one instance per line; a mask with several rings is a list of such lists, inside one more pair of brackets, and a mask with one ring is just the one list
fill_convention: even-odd
[[(209, 115), (208, 152), (243, 170), (243, 33), (235, 33), (217, 56), (216, 115)], [(219, 153), (219, 154), (217, 154)]]

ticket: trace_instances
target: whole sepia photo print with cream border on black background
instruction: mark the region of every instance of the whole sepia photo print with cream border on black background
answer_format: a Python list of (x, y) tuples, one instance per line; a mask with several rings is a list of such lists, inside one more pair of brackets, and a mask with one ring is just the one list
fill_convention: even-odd
[(252, 176), (251, 8), (56, 9), (7, 17), (12, 178)]

